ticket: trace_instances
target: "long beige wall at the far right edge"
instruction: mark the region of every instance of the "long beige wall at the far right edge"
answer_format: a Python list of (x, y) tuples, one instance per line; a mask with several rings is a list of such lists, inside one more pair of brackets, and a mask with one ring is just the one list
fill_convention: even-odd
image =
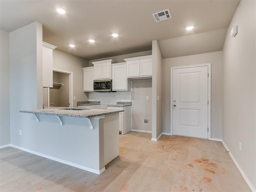
[[(236, 37), (230, 30), (238, 25)], [(242, 0), (223, 48), (223, 141), (256, 190), (256, 1)], [(239, 142), (242, 151), (239, 150)]]

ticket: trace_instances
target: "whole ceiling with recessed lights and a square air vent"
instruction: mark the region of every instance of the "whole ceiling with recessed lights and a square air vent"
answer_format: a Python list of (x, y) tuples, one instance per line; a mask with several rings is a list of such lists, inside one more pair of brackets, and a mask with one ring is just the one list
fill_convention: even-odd
[[(88, 60), (152, 49), (163, 58), (222, 50), (226, 28), (240, 0), (0, 0), (0, 29), (7, 32), (38, 21), (43, 40)], [(66, 8), (67, 14), (55, 11)], [(155, 22), (152, 13), (170, 9)], [(194, 30), (185, 27), (195, 25)], [(112, 32), (120, 36), (113, 38)], [(88, 39), (94, 38), (94, 44)], [(76, 44), (70, 48), (68, 44)]]

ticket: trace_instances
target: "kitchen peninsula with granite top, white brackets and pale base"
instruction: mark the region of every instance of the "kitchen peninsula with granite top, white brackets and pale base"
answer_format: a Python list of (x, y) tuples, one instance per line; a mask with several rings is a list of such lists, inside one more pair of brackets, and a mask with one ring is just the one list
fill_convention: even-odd
[[(21, 110), (42, 132), (41, 156), (96, 174), (119, 155), (118, 114), (124, 110), (47, 107)], [(31, 134), (31, 138), (34, 138)], [(49, 147), (46, 147), (49, 146)]]

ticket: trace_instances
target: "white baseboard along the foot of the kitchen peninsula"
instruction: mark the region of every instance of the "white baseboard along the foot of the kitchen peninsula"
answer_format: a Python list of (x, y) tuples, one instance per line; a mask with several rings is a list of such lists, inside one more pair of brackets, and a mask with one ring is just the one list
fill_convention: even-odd
[(73, 167), (76, 167), (76, 168), (79, 168), (79, 169), (82, 169), (82, 170), (86, 170), (86, 171), (89, 171), (89, 172), (92, 172), (92, 173), (95, 173), (95, 174), (98, 174), (98, 175), (106, 170), (105, 167), (103, 167), (100, 170), (96, 170), (96, 169), (93, 169), (93, 168), (90, 168), (90, 167), (82, 166), (80, 164), (76, 164), (76, 163), (73, 163), (73, 162), (70, 162), (70, 161), (62, 160), (62, 159), (59, 159), (59, 158), (56, 158), (56, 157), (53, 157), (53, 156), (42, 154), (42, 153), (32, 151), (32, 150), (29, 150), (29, 149), (26, 149), (26, 148), (23, 148), (23, 147), (20, 147), (20, 146), (13, 145), (13, 144), (10, 144), (10, 146), (13, 147), (13, 148), (16, 148), (16, 149), (20, 149), (22, 151), (26, 151), (26, 152), (29, 152), (29, 153), (32, 153), (32, 154), (50, 159), (50, 160), (54, 160), (54, 161), (57, 161), (57, 162), (60, 162), (60, 163), (66, 164), (66, 165), (70, 165), (70, 166), (73, 166)]

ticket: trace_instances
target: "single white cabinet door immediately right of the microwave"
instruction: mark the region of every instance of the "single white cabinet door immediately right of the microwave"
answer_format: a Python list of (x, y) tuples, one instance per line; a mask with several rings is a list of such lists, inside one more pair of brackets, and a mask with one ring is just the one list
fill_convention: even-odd
[(112, 90), (127, 90), (126, 64), (112, 66)]

